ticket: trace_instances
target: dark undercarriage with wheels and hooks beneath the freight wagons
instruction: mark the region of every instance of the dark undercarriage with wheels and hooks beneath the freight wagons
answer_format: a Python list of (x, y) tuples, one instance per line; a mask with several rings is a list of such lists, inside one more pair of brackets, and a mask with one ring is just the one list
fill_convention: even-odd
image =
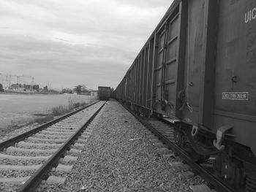
[[(176, 145), (182, 147), (195, 162), (203, 164), (211, 157), (214, 159), (214, 174), (236, 191), (256, 191), (256, 158), (249, 147), (233, 142), (233, 135), (212, 134), (206, 128), (199, 128), (177, 119), (167, 120), (162, 114), (126, 101), (122, 104), (129, 107), (136, 115), (144, 118), (158, 118), (174, 127)], [(173, 123), (170, 123), (173, 122)], [(224, 130), (227, 128), (222, 128)], [(218, 144), (217, 144), (218, 143)], [(217, 146), (217, 147), (216, 147)], [(220, 147), (219, 147), (220, 146)]]

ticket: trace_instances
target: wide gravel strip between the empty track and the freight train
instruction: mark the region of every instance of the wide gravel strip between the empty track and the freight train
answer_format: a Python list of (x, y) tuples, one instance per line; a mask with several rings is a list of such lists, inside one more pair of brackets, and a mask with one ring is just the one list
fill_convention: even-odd
[(198, 176), (183, 177), (150, 142), (150, 133), (117, 101), (104, 107), (64, 185), (43, 185), (38, 191), (190, 191)]

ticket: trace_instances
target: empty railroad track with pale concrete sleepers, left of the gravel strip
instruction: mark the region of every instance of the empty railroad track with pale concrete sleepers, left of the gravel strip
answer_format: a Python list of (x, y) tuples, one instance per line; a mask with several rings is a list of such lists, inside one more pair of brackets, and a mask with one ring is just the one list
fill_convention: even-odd
[(93, 120), (104, 105), (104, 101), (97, 101), (1, 142), (0, 189), (35, 191), (42, 180), (44, 183), (64, 180), (54, 175), (49, 177), (50, 171), (72, 169), (68, 163), (81, 153), (95, 124)]

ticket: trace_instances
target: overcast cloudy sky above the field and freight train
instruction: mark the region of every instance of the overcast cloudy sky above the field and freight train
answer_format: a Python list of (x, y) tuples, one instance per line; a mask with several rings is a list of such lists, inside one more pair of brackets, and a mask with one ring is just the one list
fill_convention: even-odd
[(1, 0), (0, 83), (116, 88), (172, 1)]

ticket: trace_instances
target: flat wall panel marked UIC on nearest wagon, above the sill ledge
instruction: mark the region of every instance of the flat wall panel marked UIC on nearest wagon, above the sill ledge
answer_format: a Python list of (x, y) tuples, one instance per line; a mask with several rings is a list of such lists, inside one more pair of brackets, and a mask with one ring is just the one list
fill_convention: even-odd
[[(221, 1), (220, 7), (215, 108), (255, 116), (256, 19), (249, 21), (246, 15), (256, 7), (256, 1), (238, 1), (236, 4)], [(256, 18), (256, 11), (254, 16)], [(225, 92), (249, 96), (223, 99), (222, 93)]]

